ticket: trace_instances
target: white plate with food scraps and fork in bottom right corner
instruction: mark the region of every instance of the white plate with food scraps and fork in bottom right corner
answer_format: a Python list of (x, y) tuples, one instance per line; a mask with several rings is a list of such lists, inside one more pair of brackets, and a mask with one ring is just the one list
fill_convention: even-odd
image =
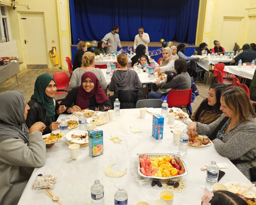
[[(234, 194), (237, 194), (238, 191), (242, 191), (243, 189), (250, 186), (246, 183), (237, 182), (237, 181), (228, 182), (224, 185), (227, 187), (227, 191), (233, 192)], [(237, 194), (237, 195), (240, 196), (243, 200), (245, 200), (246, 203), (248, 203), (249, 200), (251, 200), (251, 202), (254, 202), (254, 203), (248, 203), (248, 204), (255, 204), (256, 203), (256, 199), (255, 199), (256, 198), (256, 188), (255, 188), (255, 186), (248, 189), (243, 194), (241, 194), (241, 195)]]

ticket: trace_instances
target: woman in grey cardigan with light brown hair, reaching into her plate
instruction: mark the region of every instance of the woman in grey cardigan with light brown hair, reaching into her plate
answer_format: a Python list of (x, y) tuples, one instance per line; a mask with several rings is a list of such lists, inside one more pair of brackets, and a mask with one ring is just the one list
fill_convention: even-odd
[(187, 133), (208, 135), (216, 150), (250, 180), (256, 159), (256, 114), (250, 99), (242, 88), (229, 87), (222, 93), (220, 109), (223, 114), (218, 120), (210, 125), (192, 122)]

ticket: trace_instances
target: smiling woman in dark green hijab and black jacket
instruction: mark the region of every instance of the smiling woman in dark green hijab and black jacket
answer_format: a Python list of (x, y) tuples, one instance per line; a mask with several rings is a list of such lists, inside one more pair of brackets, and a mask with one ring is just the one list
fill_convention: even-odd
[(35, 80), (34, 95), (27, 103), (30, 107), (26, 125), (30, 128), (34, 123), (40, 121), (46, 128), (43, 134), (51, 133), (58, 129), (59, 123), (56, 122), (58, 116), (66, 110), (65, 106), (59, 106), (53, 99), (56, 92), (56, 82), (50, 74), (42, 74)]

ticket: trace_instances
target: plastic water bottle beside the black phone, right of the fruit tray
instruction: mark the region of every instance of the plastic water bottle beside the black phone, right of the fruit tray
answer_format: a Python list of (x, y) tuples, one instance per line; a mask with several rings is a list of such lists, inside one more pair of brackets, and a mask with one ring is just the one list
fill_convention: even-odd
[(211, 164), (207, 166), (205, 188), (213, 191), (213, 185), (218, 183), (218, 177), (219, 167), (216, 165), (216, 162), (211, 161)]

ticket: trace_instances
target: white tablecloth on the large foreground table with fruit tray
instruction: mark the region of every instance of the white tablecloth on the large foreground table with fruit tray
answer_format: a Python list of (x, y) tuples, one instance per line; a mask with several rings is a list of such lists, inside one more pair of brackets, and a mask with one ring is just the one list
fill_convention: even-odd
[[(160, 114), (161, 109), (155, 109)], [(66, 118), (61, 115), (60, 118)], [(182, 123), (175, 120), (174, 123)], [(130, 126), (140, 128), (141, 133), (133, 134), (127, 129)], [(120, 116), (115, 117), (105, 125), (98, 126), (104, 134), (104, 154), (91, 158), (88, 147), (85, 150), (80, 148), (80, 156), (73, 161), (70, 158), (69, 148), (66, 142), (57, 142), (53, 147), (46, 148), (46, 164), (43, 167), (35, 168), (27, 186), (21, 196), (19, 205), (56, 205), (56, 202), (46, 196), (45, 190), (31, 189), (38, 174), (52, 174), (57, 177), (56, 188), (51, 191), (59, 196), (65, 205), (90, 205), (90, 188), (94, 180), (100, 180), (104, 186), (105, 205), (114, 204), (114, 193), (117, 186), (123, 185), (128, 192), (129, 205), (145, 201), (150, 205), (153, 200), (159, 199), (159, 193), (165, 190), (157, 185), (140, 186), (133, 179), (131, 167), (138, 165), (137, 153), (178, 153), (178, 146), (173, 143), (173, 134), (170, 132), (170, 124), (165, 119), (163, 139), (156, 140), (152, 137), (152, 115), (146, 114), (146, 118), (139, 117), (139, 109), (122, 109)], [(186, 128), (186, 125), (172, 130)], [(78, 128), (75, 128), (78, 129)], [(56, 130), (54, 132), (59, 132)], [(110, 136), (119, 137), (122, 144), (114, 144)], [(187, 155), (182, 156), (188, 170), (188, 175), (182, 178), (186, 182), (185, 191), (174, 192), (173, 205), (201, 204), (201, 197), (205, 188), (206, 172), (200, 168), (210, 164), (212, 160), (216, 163), (226, 163), (228, 168), (222, 169), (226, 174), (219, 183), (240, 181), (251, 184), (250, 181), (225, 157), (219, 155), (214, 144), (200, 149), (189, 149)], [(109, 178), (104, 175), (104, 168), (110, 164), (117, 163), (112, 169), (120, 172), (127, 168), (127, 173), (120, 178)]]

